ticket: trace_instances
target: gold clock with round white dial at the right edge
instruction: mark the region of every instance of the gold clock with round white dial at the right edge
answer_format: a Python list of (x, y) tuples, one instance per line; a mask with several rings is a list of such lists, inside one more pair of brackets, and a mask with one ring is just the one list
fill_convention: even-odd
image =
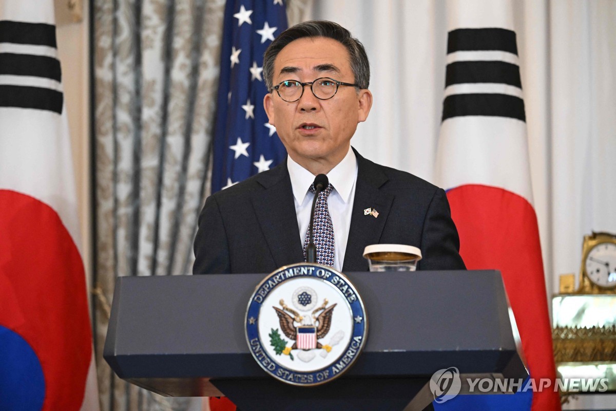
[(589, 294), (616, 294), (616, 235), (584, 236), (580, 289)]

